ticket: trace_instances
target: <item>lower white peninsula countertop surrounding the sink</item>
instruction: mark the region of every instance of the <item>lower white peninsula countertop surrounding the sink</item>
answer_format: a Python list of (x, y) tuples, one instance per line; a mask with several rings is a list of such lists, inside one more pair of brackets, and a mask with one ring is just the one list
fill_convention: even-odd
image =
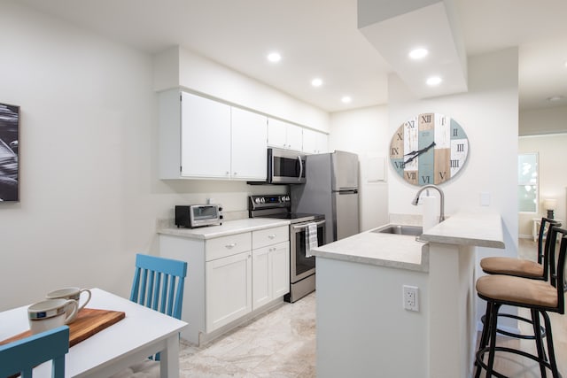
[(381, 234), (369, 230), (322, 245), (312, 251), (320, 258), (419, 272), (429, 271), (429, 245), (417, 242), (416, 236), (412, 235)]

